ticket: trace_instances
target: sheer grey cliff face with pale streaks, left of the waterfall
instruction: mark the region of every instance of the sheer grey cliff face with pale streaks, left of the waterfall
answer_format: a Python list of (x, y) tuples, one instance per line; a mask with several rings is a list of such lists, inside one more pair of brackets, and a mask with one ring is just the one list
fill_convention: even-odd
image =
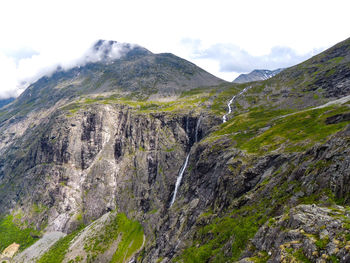
[[(21, 192), (0, 193), (2, 212), (13, 200), (25, 211), (40, 202), (48, 210), (28, 220), (39, 227), (48, 218), (49, 228), (70, 231), (76, 223), (69, 215), (81, 211), (88, 223), (116, 205), (125, 212), (165, 209), (186, 151), (209, 130), (201, 118), (199, 126), (195, 115), (144, 115), (109, 105), (55, 114), (4, 154), (12, 162), (4, 164), (2, 183)], [(19, 149), (26, 149), (23, 156)]]

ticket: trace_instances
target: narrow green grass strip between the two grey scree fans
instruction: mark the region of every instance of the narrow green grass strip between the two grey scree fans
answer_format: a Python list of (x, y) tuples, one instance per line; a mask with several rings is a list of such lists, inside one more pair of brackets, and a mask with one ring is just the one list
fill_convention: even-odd
[(84, 228), (83, 225), (79, 227), (76, 231), (70, 233), (69, 235), (58, 240), (49, 251), (47, 251), (37, 263), (60, 263), (63, 261), (64, 256), (67, 253), (70, 242), (79, 234), (81, 229)]

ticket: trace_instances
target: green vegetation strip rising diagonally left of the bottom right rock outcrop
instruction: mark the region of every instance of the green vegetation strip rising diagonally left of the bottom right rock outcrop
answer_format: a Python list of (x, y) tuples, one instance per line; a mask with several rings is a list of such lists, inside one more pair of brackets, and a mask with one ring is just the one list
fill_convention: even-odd
[[(225, 216), (214, 217), (209, 224), (197, 229), (192, 245), (185, 249), (177, 260), (182, 259), (186, 263), (237, 261), (247, 248), (249, 239), (270, 218), (269, 214), (274, 207), (285, 204), (291, 195), (285, 190), (292, 184), (293, 182), (285, 182), (282, 186), (275, 187), (269, 197), (229, 212)], [(200, 219), (212, 218), (211, 214), (210, 211), (204, 213)], [(229, 247), (227, 244), (230, 244)], [(228, 248), (231, 256), (224, 254), (224, 249)], [(255, 259), (261, 260), (257, 262), (264, 262), (266, 255), (257, 256)]]

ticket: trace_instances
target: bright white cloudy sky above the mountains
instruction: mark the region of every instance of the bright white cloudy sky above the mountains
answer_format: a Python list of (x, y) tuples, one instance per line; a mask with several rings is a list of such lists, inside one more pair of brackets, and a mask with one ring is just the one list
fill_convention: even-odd
[(232, 81), (350, 37), (348, 0), (0, 1), (0, 99), (81, 64), (98, 39), (170, 52)]

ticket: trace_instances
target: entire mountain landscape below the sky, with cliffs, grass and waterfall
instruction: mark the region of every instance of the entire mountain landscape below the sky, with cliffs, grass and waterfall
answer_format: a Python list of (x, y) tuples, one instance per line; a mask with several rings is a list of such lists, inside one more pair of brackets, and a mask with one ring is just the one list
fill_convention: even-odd
[(350, 39), (243, 84), (114, 45), (0, 110), (4, 257), (349, 262)]

